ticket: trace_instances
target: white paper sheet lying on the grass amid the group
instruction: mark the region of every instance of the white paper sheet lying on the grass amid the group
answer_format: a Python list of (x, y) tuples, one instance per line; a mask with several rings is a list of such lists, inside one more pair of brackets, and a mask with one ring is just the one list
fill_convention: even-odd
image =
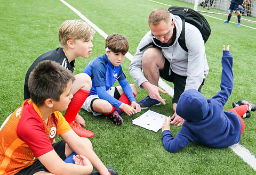
[(147, 112), (140, 115), (138, 118), (134, 119), (132, 123), (142, 128), (157, 132), (159, 129), (162, 128), (164, 118), (165, 115), (148, 110)]

